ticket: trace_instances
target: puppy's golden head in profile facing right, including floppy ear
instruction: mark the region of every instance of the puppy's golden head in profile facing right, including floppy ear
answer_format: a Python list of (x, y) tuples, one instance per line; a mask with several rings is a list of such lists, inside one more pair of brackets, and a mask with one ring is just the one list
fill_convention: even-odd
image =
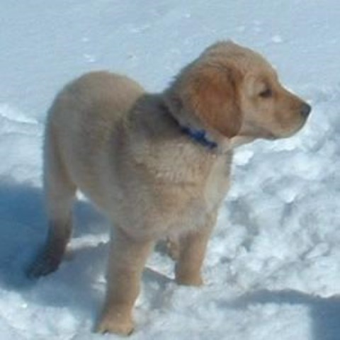
[(166, 101), (180, 121), (248, 140), (293, 135), (311, 110), (261, 55), (233, 42), (217, 42), (183, 69)]

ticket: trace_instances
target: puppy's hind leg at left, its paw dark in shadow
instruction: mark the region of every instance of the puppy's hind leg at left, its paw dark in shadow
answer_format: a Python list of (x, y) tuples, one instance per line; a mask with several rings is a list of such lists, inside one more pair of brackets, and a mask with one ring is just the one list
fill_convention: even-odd
[(52, 133), (46, 134), (44, 162), (48, 232), (45, 246), (28, 271), (31, 278), (57, 270), (72, 234), (72, 203), (76, 186), (69, 179)]

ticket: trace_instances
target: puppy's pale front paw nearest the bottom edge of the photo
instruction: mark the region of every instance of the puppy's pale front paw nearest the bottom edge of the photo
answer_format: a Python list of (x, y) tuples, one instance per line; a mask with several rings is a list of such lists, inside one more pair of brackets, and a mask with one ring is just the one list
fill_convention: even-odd
[(101, 334), (114, 333), (123, 336), (132, 334), (134, 324), (132, 319), (123, 319), (122, 317), (105, 315), (96, 326), (96, 332)]

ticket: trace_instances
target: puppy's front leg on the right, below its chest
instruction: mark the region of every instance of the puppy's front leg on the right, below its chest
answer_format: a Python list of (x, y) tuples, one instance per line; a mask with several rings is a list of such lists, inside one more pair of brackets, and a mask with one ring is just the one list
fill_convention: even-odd
[(215, 220), (215, 217), (209, 218), (205, 227), (189, 232), (180, 239), (179, 259), (175, 269), (176, 282), (180, 285), (203, 285), (200, 269)]

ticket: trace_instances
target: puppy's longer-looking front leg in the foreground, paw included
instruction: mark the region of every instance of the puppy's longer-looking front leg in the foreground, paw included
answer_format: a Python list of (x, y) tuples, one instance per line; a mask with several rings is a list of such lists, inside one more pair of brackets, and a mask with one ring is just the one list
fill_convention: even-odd
[(142, 271), (153, 245), (153, 241), (136, 241), (120, 230), (111, 236), (106, 302), (98, 332), (132, 333), (132, 308), (140, 293)]

